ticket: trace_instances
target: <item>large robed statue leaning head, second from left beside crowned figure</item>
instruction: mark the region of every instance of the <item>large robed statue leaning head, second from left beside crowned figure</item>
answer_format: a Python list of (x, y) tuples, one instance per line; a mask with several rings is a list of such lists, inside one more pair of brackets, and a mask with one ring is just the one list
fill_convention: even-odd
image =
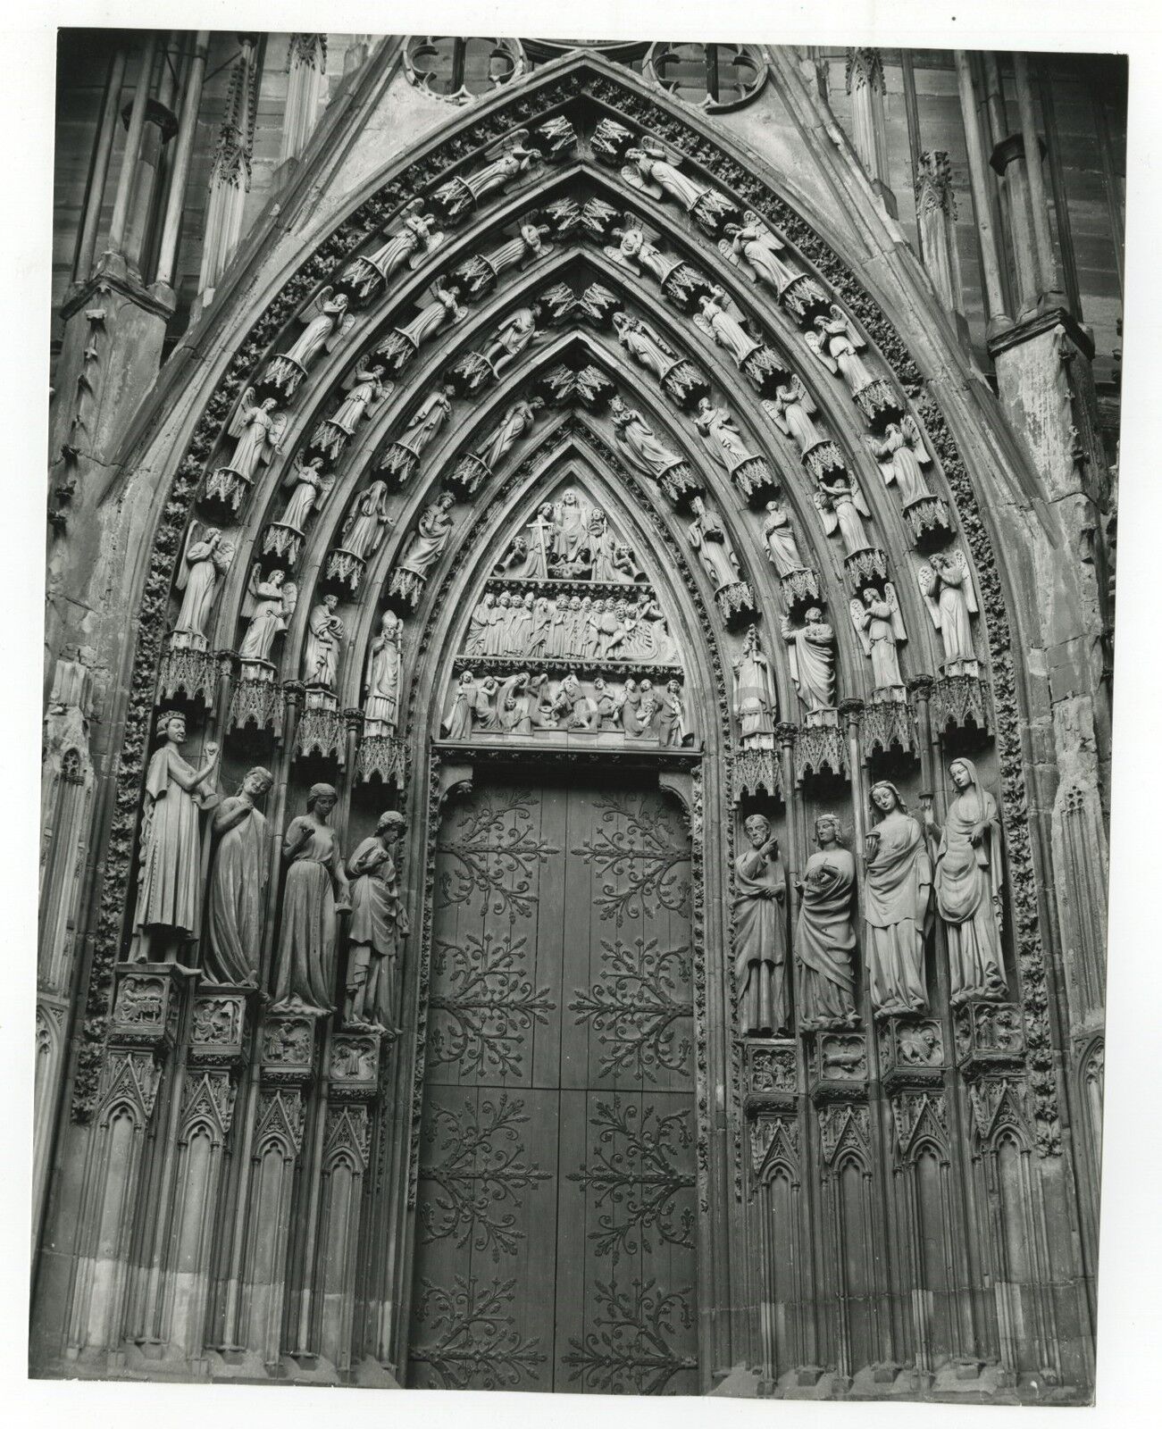
[(204, 972), (210, 982), (256, 986), (270, 867), (266, 817), (256, 807), (274, 783), (252, 769), (236, 795), (214, 809), (217, 839), (206, 909)]

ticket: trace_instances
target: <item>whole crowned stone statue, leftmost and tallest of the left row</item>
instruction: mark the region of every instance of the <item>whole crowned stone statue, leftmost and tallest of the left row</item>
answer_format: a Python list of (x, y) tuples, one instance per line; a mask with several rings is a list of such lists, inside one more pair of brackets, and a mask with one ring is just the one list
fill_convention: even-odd
[[(194, 942), (202, 929), (202, 833), (199, 810), (217, 800), (212, 789), (217, 745), (203, 749), (194, 769), (182, 757), (186, 717), (167, 710), (157, 717), (163, 740), (146, 772), (141, 807), (141, 862), (133, 915), (130, 962), (160, 962), (173, 945)], [(160, 955), (160, 956), (159, 956)]]

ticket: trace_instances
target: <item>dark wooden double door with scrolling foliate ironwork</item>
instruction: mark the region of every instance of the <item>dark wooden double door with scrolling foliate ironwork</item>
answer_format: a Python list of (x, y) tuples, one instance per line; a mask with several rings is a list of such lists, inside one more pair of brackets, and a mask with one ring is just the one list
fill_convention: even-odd
[(656, 789), (446, 815), (413, 1386), (697, 1393), (690, 893)]

